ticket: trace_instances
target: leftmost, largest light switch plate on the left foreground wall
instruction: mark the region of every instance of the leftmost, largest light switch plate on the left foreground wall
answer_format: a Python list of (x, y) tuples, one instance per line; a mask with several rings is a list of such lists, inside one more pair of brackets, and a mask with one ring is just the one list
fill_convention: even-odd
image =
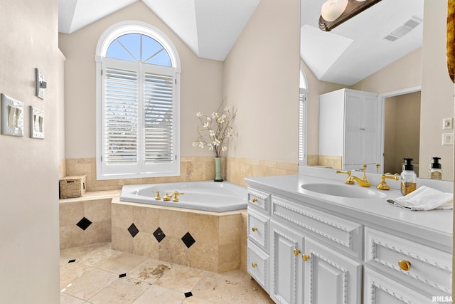
[(23, 136), (23, 102), (1, 93), (1, 134)]

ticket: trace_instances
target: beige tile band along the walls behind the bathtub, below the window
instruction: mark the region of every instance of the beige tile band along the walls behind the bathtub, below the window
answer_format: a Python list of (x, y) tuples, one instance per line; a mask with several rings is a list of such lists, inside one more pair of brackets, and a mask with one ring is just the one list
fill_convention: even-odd
[[(246, 186), (245, 177), (297, 174), (298, 164), (259, 159), (223, 157), (223, 178), (234, 184)], [(65, 159), (66, 175), (86, 175), (87, 191), (122, 189), (124, 184), (156, 184), (164, 182), (197, 182), (215, 177), (213, 157), (181, 157), (179, 177), (150, 177), (142, 179), (96, 179), (95, 158)]]

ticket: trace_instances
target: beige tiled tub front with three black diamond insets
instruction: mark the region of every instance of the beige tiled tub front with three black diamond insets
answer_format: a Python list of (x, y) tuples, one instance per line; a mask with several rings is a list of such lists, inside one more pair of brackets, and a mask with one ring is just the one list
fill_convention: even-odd
[(218, 213), (114, 199), (112, 248), (214, 273), (234, 271), (246, 261), (244, 214), (246, 209)]

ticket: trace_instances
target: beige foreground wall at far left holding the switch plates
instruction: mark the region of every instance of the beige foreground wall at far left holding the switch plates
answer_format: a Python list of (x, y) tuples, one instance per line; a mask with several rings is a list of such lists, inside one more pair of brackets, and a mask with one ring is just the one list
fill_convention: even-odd
[[(24, 105), (24, 136), (0, 135), (0, 303), (60, 303), (57, 0), (0, 4), (0, 93)], [(35, 96), (35, 68), (48, 83)], [(30, 138), (29, 106), (45, 110), (45, 139)]]

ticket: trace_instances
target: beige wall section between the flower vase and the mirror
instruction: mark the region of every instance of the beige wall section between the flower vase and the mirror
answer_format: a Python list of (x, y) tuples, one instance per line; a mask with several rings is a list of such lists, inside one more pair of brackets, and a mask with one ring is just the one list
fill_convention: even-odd
[(224, 95), (238, 108), (230, 157), (297, 163), (299, 0), (262, 0), (225, 60)]

